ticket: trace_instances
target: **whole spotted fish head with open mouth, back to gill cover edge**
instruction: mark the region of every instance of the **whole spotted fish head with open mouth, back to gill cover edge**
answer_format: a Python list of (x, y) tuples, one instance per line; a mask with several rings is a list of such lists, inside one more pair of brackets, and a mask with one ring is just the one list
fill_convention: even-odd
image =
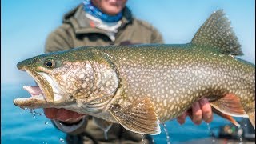
[[(90, 50), (42, 54), (18, 62), (38, 86), (25, 86), (30, 98), (16, 98), (26, 108), (66, 108), (78, 111), (89, 105), (104, 106), (118, 88), (118, 76), (106, 57)], [(39, 91), (39, 92), (37, 92)]]

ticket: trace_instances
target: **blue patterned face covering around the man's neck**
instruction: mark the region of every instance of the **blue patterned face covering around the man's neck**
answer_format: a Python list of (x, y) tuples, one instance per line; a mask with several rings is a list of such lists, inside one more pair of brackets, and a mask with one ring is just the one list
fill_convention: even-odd
[(101, 10), (99, 10), (96, 6), (94, 6), (90, 0), (85, 0), (83, 2), (84, 10), (86, 13), (93, 15), (96, 18), (101, 19), (105, 22), (118, 22), (122, 18), (122, 11), (114, 16), (109, 14), (104, 14)]

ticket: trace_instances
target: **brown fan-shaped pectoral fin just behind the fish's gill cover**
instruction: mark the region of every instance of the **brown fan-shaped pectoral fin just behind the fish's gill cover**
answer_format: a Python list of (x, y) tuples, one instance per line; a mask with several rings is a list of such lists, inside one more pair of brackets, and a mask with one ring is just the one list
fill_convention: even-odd
[(129, 106), (113, 104), (110, 113), (127, 130), (139, 134), (160, 134), (157, 114), (154, 104), (149, 98), (138, 98)]

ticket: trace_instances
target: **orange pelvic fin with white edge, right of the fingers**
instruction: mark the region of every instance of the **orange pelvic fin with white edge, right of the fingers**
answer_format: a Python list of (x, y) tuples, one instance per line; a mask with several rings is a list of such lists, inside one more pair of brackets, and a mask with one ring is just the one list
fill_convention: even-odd
[(232, 116), (248, 117), (246, 111), (243, 109), (240, 99), (234, 94), (226, 94), (217, 101), (210, 102), (210, 105), (213, 107), (215, 114), (218, 114), (222, 118), (226, 118), (236, 126), (240, 125), (234, 120), (234, 118), (232, 118)]

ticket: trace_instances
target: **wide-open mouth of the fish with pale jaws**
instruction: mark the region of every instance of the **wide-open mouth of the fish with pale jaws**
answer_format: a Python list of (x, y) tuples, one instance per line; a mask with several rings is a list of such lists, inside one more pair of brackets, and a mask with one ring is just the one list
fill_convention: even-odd
[(54, 84), (54, 80), (49, 74), (25, 71), (34, 78), (38, 86), (23, 86), (23, 89), (27, 90), (31, 97), (15, 98), (14, 105), (21, 108), (46, 108), (54, 107), (62, 102), (58, 86)]

